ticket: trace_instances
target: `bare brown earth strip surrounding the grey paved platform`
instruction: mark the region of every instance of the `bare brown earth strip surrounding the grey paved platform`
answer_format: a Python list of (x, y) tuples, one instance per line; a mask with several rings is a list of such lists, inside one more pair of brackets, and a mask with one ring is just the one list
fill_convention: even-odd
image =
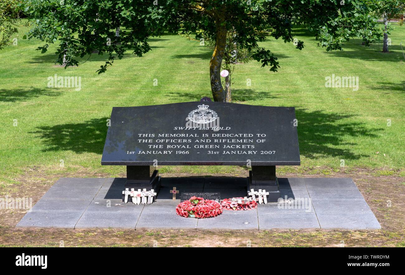
[[(22, 209), (0, 209), (0, 246), (122, 246), (122, 247), (269, 247), (269, 246), (400, 246), (405, 247), (405, 180), (398, 176), (375, 176), (374, 171), (355, 173), (297, 174), (279, 177), (352, 178), (367, 201), (382, 230), (358, 231), (207, 231), (207, 230), (115, 230), (115, 229), (21, 229), (15, 225), (25, 215)], [(209, 174), (199, 174), (210, 176)], [(125, 176), (125, 175), (122, 175)], [(165, 177), (195, 176), (188, 173), (162, 174)], [(247, 176), (247, 172), (215, 174)], [(47, 176), (39, 167), (19, 178), (19, 184), (0, 188), (0, 197), (30, 197), (35, 204), (61, 177), (109, 177), (101, 173), (60, 173)]]

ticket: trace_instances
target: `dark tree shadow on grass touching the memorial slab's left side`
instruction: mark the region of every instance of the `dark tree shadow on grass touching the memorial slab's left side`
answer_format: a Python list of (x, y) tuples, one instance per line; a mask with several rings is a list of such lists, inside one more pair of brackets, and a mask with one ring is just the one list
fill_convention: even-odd
[(43, 152), (71, 150), (76, 153), (102, 154), (108, 130), (108, 118), (93, 118), (83, 123), (41, 126), (30, 133), (40, 138), (44, 146)]

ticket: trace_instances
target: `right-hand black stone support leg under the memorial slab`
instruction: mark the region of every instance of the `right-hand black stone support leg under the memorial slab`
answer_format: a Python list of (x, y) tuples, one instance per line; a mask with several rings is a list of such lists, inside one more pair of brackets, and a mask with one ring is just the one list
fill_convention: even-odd
[(280, 188), (276, 177), (275, 166), (252, 166), (252, 171), (249, 171), (248, 191), (254, 189), (266, 190), (269, 192), (269, 202), (277, 202), (280, 197)]

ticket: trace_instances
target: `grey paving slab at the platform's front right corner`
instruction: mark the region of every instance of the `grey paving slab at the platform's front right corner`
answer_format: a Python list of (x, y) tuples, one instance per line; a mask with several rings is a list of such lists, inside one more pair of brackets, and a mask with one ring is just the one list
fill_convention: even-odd
[(322, 229), (381, 229), (373, 212), (317, 213)]

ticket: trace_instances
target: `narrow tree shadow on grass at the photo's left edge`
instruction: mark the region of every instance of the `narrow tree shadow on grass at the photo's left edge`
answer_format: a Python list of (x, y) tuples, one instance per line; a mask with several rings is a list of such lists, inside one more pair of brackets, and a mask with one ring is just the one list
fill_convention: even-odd
[(58, 89), (46, 88), (17, 88), (17, 89), (0, 89), (0, 102), (16, 102), (28, 100), (34, 97), (46, 96), (58, 96), (62, 92)]

